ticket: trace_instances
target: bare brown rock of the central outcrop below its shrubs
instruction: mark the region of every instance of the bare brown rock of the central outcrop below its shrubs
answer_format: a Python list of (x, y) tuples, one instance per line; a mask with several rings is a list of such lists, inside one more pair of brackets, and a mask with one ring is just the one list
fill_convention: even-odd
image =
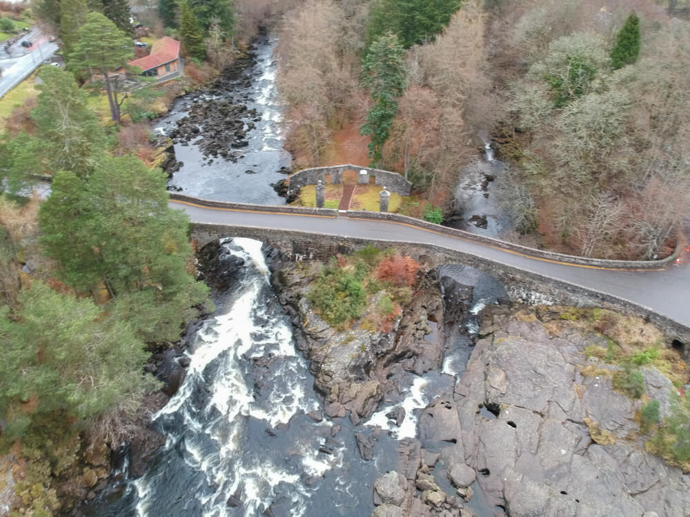
[[(274, 274), (273, 283), (280, 292), (280, 302), (302, 330), (297, 332), (297, 346), (311, 361), (315, 387), (326, 398), (326, 416), (342, 418), (349, 414), (357, 425), (373, 414), (386, 390), (395, 389), (389, 381), (393, 373), (407, 370), (421, 374), (440, 367), (442, 340), (433, 343), (424, 339), (431, 332), (428, 314), (442, 314), (437, 279), (432, 273), (422, 281), (392, 332), (357, 324), (339, 331), (319, 318), (306, 299), (317, 273), (315, 267), (288, 265)], [(384, 295), (382, 291), (371, 297), (360, 321), (375, 313)], [(402, 421), (404, 413), (396, 418)]]

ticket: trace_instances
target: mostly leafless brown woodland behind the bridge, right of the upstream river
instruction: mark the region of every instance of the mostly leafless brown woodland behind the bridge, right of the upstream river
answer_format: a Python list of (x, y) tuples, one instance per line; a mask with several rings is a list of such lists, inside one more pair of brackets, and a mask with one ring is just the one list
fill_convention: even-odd
[(281, 25), (290, 145), (321, 163), (359, 125), (371, 161), (448, 208), (501, 144), (507, 238), (651, 259), (688, 216), (690, 26), (649, 0), (306, 0)]

